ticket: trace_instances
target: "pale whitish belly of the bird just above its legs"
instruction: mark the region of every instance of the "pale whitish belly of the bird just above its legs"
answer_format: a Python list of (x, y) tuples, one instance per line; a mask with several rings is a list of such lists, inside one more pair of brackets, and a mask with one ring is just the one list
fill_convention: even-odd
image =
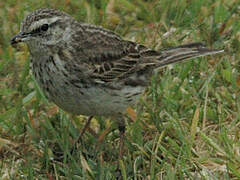
[(127, 107), (136, 104), (144, 91), (143, 87), (125, 87), (121, 90), (104, 87), (78, 88), (72, 85), (58, 84), (55, 90), (44, 94), (63, 110), (78, 115), (109, 116), (123, 113)]

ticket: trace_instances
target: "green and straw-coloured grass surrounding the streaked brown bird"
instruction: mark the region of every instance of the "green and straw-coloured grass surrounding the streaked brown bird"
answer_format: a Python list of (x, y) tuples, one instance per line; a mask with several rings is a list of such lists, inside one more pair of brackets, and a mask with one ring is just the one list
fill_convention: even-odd
[[(27, 47), (10, 46), (22, 19), (64, 10), (154, 49), (205, 42), (225, 53), (161, 69), (129, 109), (123, 179), (240, 179), (239, 0), (0, 1), (0, 179), (115, 179), (119, 132), (48, 102), (29, 73)], [(90, 133), (91, 132), (91, 133)], [(103, 138), (104, 137), (104, 138)], [(63, 152), (63, 161), (54, 153)]]

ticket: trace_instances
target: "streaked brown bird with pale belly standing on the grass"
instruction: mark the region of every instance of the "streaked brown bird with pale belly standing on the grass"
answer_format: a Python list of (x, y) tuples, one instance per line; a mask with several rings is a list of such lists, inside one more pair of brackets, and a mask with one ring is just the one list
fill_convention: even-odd
[(198, 42), (154, 50), (50, 8), (25, 17), (10, 40), (13, 46), (20, 42), (27, 44), (32, 74), (50, 101), (66, 112), (88, 116), (85, 127), (93, 116), (111, 117), (121, 142), (124, 113), (139, 101), (155, 69), (223, 52)]

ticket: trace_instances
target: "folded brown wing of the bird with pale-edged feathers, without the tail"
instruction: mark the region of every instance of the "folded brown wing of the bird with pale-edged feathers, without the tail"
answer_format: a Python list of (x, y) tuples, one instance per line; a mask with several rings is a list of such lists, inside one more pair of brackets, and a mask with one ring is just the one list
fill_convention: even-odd
[[(85, 34), (84, 34), (85, 33)], [(83, 38), (84, 37), (84, 38)], [(83, 25), (78, 51), (91, 69), (91, 77), (103, 82), (124, 79), (151, 64), (150, 54), (158, 52), (143, 45), (125, 41), (115, 33), (93, 25)], [(148, 57), (148, 58), (145, 58)]]

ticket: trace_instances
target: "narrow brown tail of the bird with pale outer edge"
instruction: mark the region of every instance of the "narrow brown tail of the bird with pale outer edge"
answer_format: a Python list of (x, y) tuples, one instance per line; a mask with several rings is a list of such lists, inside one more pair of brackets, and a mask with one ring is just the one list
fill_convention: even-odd
[(185, 59), (221, 53), (224, 50), (208, 49), (202, 43), (191, 43), (161, 51), (157, 57), (157, 67), (162, 67)]

